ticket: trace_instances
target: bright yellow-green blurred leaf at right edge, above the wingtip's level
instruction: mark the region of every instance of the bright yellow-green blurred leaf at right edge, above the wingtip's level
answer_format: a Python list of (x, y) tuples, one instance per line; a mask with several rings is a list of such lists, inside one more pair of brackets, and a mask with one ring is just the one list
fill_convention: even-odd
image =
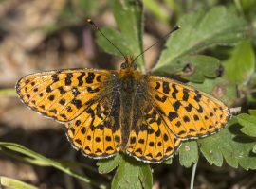
[(255, 70), (255, 56), (249, 41), (243, 41), (237, 45), (229, 60), (224, 64), (226, 77), (235, 84), (247, 83)]

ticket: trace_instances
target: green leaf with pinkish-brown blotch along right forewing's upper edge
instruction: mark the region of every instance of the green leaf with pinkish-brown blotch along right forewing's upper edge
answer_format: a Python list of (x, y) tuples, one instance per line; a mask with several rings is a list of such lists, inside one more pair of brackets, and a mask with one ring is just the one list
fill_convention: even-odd
[(231, 105), (237, 97), (236, 85), (230, 84), (223, 78), (205, 79), (205, 82), (202, 84), (189, 84), (200, 91), (213, 95), (215, 98), (225, 102), (227, 105)]

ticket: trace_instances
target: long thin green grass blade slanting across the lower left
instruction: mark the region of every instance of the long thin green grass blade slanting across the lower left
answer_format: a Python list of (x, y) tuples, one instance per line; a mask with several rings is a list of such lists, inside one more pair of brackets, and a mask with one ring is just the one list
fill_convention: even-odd
[(51, 159), (48, 159), (30, 149), (27, 149), (24, 146), (20, 146), (18, 144), (14, 144), (14, 143), (0, 142), (0, 152), (3, 152), (5, 148), (7, 148), (11, 151), (15, 151), (19, 154), (22, 154), (22, 156), (19, 156), (19, 157), (17, 156), (16, 158), (26, 161), (27, 163), (33, 163), (33, 164), (36, 164), (39, 166), (52, 166), (56, 169), (63, 171), (67, 175), (73, 176), (79, 180), (90, 183), (96, 187), (99, 187), (102, 189), (106, 188), (104, 185), (101, 185), (98, 181), (91, 180), (84, 175), (81, 175), (81, 174), (78, 174), (78, 173), (72, 171), (70, 168), (72, 168), (73, 166), (62, 163), (60, 161), (53, 161)]

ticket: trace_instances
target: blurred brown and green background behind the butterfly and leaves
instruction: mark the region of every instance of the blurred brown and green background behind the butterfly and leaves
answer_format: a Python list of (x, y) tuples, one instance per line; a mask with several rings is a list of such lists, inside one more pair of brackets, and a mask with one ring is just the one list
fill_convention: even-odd
[[(144, 1), (144, 48), (161, 39), (183, 14), (224, 5), (233, 9), (239, 1)], [(242, 4), (241, 4), (242, 2)], [(247, 22), (256, 28), (256, 5), (241, 1)], [(242, 7), (241, 7), (242, 6)], [(95, 43), (95, 30), (86, 24), (92, 18), (99, 26), (116, 27), (110, 0), (0, 0), (0, 141), (15, 142), (52, 159), (73, 160), (95, 166), (82, 157), (64, 135), (61, 124), (32, 112), (13, 93), (16, 81), (27, 74), (61, 68), (119, 69), (122, 61)], [(255, 31), (255, 30), (254, 30)], [(256, 32), (254, 32), (254, 36)], [(255, 37), (254, 41), (255, 49)], [(146, 70), (154, 66), (163, 48), (159, 43), (145, 54)], [(96, 166), (95, 166), (96, 167)], [(174, 158), (172, 165), (154, 165), (154, 188), (189, 188), (191, 169)], [(81, 173), (110, 181), (98, 173)], [(0, 154), (0, 175), (23, 180), (40, 188), (92, 188), (50, 167), (19, 162)], [(198, 164), (195, 188), (256, 188), (252, 171)]]

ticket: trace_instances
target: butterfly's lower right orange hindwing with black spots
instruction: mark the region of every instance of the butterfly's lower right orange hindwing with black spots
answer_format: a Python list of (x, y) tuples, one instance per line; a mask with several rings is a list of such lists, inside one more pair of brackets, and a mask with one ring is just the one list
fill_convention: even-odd
[[(144, 85), (145, 86), (145, 85)], [(170, 158), (180, 145), (161, 118), (159, 108), (146, 89), (135, 95), (133, 124), (126, 145), (126, 152), (146, 163), (159, 163)]]

